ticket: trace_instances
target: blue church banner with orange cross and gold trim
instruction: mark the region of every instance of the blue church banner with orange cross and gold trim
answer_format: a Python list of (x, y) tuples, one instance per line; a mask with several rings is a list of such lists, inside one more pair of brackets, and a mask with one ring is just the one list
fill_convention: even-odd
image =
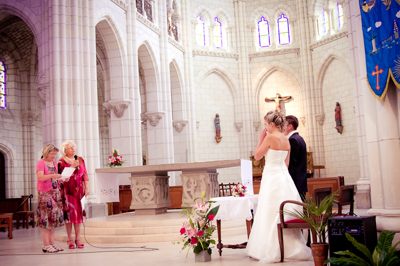
[(400, 87), (400, 0), (359, 0), (364, 36), (366, 81), (381, 101), (390, 77)]

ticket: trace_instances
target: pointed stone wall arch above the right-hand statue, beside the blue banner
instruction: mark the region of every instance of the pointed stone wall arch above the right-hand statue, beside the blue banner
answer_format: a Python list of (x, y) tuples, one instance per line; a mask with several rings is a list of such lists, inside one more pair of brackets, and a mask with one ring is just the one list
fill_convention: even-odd
[(329, 48), (319, 59), (318, 64), (315, 67), (314, 70), (314, 77), (315, 78), (315, 88), (316, 88), (316, 106), (317, 108), (320, 108), (318, 110), (318, 113), (323, 112), (323, 105), (322, 105), (322, 81), (323, 77), (325, 76), (325, 71), (326, 68), (329, 66), (330, 62), (333, 59), (338, 59), (342, 61), (348, 68), (348, 71), (351, 72), (351, 62), (350, 59), (341, 51), (334, 49), (334, 48)]

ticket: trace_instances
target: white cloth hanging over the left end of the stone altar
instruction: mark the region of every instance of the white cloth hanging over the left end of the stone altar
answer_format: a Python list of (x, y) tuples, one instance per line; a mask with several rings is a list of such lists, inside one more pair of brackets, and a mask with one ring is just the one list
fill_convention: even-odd
[(97, 203), (119, 202), (118, 174), (96, 173)]

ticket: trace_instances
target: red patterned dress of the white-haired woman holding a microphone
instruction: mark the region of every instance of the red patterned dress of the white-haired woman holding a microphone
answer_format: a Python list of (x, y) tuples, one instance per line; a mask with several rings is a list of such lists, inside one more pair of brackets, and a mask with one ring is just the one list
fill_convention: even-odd
[[(80, 200), (84, 196), (83, 181), (88, 181), (86, 167), (82, 157), (77, 157), (79, 170), (76, 168), (68, 182), (63, 182), (63, 201), (65, 223), (80, 224), (86, 222), (86, 213), (82, 208)], [(65, 167), (70, 167), (63, 158), (58, 160), (58, 174), (62, 173)], [(66, 212), (66, 215), (65, 215)]]

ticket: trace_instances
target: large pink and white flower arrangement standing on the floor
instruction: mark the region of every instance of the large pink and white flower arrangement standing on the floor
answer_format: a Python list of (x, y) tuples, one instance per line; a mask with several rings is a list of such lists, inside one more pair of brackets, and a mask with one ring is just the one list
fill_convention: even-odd
[[(215, 240), (211, 239), (211, 235), (216, 229), (216, 227), (211, 224), (211, 221), (214, 220), (219, 205), (209, 210), (213, 201), (203, 202), (204, 195), (205, 191), (201, 193), (201, 202), (196, 202), (196, 200), (199, 199), (196, 198), (194, 200), (195, 204), (190, 206), (192, 208), (188, 208), (186, 211), (187, 219), (183, 222), (183, 227), (180, 229), (180, 235), (184, 236), (181, 252), (185, 248), (189, 248), (187, 250), (188, 254), (189, 250), (193, 248), (194, 254), (198, 254), (201, 251), (207, 251), (208, 254), (211, 254), (209, 245), (215, 244)], [(175, 244), (175, 242), (172, 243)], [(177, 242), (177, 244), (180, 244), (180, 242)]]

